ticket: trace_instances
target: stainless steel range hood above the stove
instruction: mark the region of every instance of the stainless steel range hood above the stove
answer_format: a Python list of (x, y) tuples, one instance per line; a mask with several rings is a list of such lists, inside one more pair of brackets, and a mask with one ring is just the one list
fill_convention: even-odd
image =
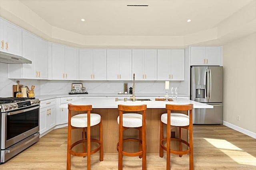
[(20, 57), (18, 55), (13, 55), (13, 54), (9, 54), (9, 53), (0, 51), (0, 63), (7, 63), (7, 64), (28, 63), (28, 64), (31, 64), (32, 61), (25, 59), (24, 57)]

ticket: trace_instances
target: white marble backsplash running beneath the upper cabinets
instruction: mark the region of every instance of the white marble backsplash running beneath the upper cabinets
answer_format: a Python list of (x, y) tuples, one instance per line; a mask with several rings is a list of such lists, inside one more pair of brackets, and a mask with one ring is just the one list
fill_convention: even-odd
[[(185, 81), (170, 81), (170, 86), (178, 86), (179, 94), (189, 96), (189, 80), (185, 74)], [(35, 86), (35, 97), (48, 94), (68, 94), (72, 83), (82, 83), (88, 93), (114, 93), (123, 92), (123, 84), (128, 83), (128, 88), (132, 87), (131, 81), (72, 81), (72, 80), (30, 80), (19, 79), (20, 84)], [(136, 80), (136, 78), (135, 78)], [(0, 97), (12, 96), (12, 85), (17, 84), (16, 79), (8, 79), (8, 64), (0, 63)], [(165, 93), (164, 81), (135, 81), (135, 94), (143, 93)]]

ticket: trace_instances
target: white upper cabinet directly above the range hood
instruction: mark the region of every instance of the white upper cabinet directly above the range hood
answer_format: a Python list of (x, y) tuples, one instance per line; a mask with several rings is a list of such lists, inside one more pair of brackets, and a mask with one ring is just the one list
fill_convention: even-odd
[(22, 29), (0, 18), (0, 51), (22, 56)]

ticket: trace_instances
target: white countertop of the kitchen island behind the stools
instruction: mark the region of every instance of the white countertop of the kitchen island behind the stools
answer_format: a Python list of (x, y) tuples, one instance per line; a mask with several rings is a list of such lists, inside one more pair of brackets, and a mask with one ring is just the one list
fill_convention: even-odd
[[(150, 98), (152, 101), (115, 101), (115, 98), (82, 98), (79, 100), (75, 100), (70, 102), (74, 105), (92, 105), (92, 108), (118, 108), (119, 104), (136, 106), (146, 104), (147, 108), (165, 108), (166, 104), (194, 104), (194, 108), (213, 108), (213, 106), (208, 104), (203, 104), (199, 102), (194, 102), (192, 100), (187, 100), (183, 98), (178, 98), (177, 102), (164, 102), (164, 101), (155, 101), (154, 98)], [(175, 99), (174, 99), (175, 100)], [(68, 104), (61, 105), (60, 108), (67, 108)]]

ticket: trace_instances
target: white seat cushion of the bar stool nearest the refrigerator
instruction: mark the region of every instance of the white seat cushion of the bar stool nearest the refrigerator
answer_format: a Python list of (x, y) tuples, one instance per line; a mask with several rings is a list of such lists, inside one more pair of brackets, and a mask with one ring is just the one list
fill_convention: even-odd
[[(167, 113), (161, 115), (161, 121), (167, 125)], [(171, 126), (188, 126), (189, 116), (182, 113), (171, 113)]]

